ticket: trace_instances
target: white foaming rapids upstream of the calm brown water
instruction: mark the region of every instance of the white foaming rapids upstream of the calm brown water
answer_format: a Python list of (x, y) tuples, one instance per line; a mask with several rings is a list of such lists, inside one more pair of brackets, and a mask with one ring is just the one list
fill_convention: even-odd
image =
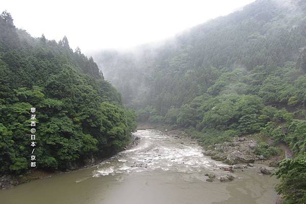
[(163, 135), (156, 130), (139, 130), (134, 135), (141, 138), (137, 147), (101, 162), (93, 177), (152, 170), (201, 172), (223, 165), (201, 154), (202, 148), (188, 139)]

